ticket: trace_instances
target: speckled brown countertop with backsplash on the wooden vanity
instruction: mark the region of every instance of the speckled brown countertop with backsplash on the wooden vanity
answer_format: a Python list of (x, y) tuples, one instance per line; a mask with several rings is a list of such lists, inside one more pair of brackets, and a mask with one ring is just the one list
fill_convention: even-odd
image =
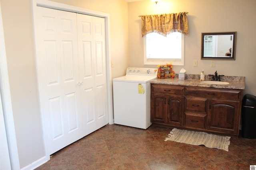
[[(206, 80), (209, 80), (206, 76)], [(174, 78), (156, 78), (152, 80), (151, 84), (169, 84), (178, 86), (194, 86), (194, 87), (207, 87), (207, 88), (226, 88), (226, 89), (239, 89), (244, 90), (245, 88), (245, 77), (241, 76), (223, 76), (221, 78), (222, 82), (228, 82), (229, 84), (219, 85), (219, 84), (204, 84), (204, 81), (200, 81), (200, 75), (198, 74), (186, 74), (185, 80), (179, 80), (178, 75)]]

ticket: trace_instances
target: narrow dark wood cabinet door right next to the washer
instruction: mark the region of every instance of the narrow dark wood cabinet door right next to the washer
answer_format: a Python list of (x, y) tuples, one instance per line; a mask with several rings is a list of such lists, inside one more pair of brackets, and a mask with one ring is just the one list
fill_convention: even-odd
[(160, 94), (151, 95), (151, 122), (166, 123), (167, 97)]

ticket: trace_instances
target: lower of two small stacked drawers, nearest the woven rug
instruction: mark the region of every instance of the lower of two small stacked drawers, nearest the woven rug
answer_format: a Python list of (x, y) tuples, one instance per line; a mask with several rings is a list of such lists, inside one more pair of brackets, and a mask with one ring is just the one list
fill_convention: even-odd
[(198, 127), (198, 128), (205, 129), (206, 115), (185, 113), (185, 126), (186, 127)]

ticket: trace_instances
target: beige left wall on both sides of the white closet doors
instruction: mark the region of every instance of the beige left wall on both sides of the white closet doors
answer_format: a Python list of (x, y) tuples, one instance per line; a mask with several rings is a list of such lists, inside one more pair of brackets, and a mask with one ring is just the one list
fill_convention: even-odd
[[(110, 14), (112, 78), (128, 67), (128, 4), (122, 0), (52, 0)], [(0, 0), (20, 168), (45, 156), (42, 133), (33, 0)]]

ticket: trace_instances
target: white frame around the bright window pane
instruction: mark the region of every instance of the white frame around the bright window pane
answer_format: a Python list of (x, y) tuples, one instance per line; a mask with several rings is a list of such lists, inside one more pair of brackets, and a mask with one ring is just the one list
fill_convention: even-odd
[(164, 65), (172, 63), (176, 66), (184, 66), (184, 34), (181, 33), (181, 59), (148, 59), (146, 56), (146, 36), (143, 37), (144, 65)]

